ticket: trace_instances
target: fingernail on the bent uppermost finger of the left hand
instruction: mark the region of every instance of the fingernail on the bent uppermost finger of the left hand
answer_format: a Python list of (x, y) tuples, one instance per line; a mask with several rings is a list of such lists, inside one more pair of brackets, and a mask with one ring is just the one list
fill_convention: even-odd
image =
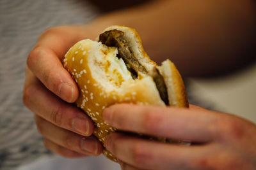
[(74, 87), (68, 85), (68, 83), (60, 83), (58, 86), (58, 94), (61, 99), (71, 103), (74, 98)]

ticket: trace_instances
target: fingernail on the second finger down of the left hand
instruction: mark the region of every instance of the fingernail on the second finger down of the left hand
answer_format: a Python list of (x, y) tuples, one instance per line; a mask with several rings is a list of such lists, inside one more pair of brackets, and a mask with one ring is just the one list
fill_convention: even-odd
[(72, 120), (72, 128), (79, 132), (80, 134), (84, 134), (84, 136), (89, 136), (89, 122), (87, 118), (83, 117), (75, 117)]

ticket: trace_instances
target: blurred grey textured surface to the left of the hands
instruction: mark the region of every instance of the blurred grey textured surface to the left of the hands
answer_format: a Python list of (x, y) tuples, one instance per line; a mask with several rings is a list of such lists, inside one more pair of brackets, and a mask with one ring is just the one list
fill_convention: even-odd
[(49, 153), (22, 104), (26, 58), (36, 39), (49, 27), (86, 23), (97, 14), (86, 1), (0, 1), (0, 169)]

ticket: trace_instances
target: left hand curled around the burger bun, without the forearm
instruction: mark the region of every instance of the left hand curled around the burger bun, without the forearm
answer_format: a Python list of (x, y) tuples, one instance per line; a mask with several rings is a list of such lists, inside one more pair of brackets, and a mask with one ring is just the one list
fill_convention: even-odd
[(62, 66), (65, 53), (74, 43), (96, 37), (91, 30), (86, 26), (49, 29), (40, 36), (27, 60), (23, 102), (35, 113), (46, 148), (64, 157), (102, 152), (100, 142), (91, 136), (92, 120), (71, 104), (79, 91)]

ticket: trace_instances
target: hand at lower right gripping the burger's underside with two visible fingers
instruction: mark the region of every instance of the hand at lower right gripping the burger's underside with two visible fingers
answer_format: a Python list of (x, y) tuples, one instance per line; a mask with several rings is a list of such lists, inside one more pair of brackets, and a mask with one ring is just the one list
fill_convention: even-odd
[(191, 146), (147, 141), (120, 133), (106, 137), (106, 148), (122, 169), (256, 169), (256, 125), (225, 113), (117, 104), (104, 120), (123, 131), (183, 139)]

